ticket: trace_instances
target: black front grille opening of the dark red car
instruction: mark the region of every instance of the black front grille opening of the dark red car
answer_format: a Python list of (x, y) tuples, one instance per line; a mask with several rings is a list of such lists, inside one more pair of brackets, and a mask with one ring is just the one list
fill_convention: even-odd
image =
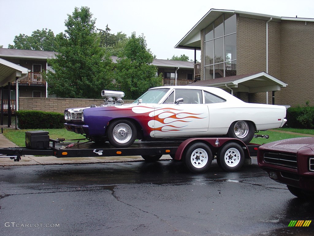
[(264, 153), (264, 161), (269, 164), (298, 168), (296, 154), (266, 152)]

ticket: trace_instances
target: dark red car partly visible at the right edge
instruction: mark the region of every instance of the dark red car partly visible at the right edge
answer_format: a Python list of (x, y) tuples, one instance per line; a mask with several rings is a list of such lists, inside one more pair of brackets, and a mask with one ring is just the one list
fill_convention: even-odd
[(258, 165), (299, 197), (314, 199), (314, 138), (291, 138), (258, 148)]

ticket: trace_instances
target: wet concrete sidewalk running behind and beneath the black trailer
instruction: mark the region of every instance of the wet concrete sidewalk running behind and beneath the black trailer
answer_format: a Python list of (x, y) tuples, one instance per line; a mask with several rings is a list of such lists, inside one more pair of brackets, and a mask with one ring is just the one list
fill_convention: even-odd
[[(0, 134), (0, 148), (17, 147), (3, 134)], [(143, 161), (141, 156), (121, 156), (121, 157), (62, 157), (55, 156), (21, 156), (20, 161), (11, 160), (9, 157), (0, 155), (0, 166), (25, 166), (25, 165), (63, 165), (63, 164), (88, 164), (88, 163), (112, 163), (112, 162), (129, 162)], [(170, 155), (163, 155), (160, 160), (171, 160)]]

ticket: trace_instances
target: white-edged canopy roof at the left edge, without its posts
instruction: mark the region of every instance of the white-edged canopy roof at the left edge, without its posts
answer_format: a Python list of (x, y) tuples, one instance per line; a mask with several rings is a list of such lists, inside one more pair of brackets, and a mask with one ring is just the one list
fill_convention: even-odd
[(8, 85), (10, 82), (15, 82), (16, 77), (27, 75), (29, 71), (25, 67), (0, 58), (0, 87)]

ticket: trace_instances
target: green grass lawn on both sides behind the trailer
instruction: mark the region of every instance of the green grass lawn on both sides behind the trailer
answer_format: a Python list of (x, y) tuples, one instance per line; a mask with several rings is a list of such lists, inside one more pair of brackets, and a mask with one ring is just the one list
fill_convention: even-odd
[[(15, 129), (4, 129), (3, 135), (11, 140), (13, 143), (17, 144), (20, 147), (25, 146), (25, 132), (33, 131), (40, 129), (32, 129), (32, 130), (15, 130)], [(76, 139), (76, 138), (84, 138), (83, 135), (77, 134), (74, 132), (69, 132), (65, 128), (63, 129), (45, 129), (45, 131), (49, 132), (49, 137), (51, 139), (57, 138), (65, 138), (65, 139)], [(285, 132), (279, 132), (285, 131)], [(287, 133), (287, 132), (295, 132), (295, 133)], [(270, 143), (277, 140), (287, 139), (287, 138), (298, 138), (305, 137), (306, 134), (314, 135), (314, 130), (312, 129), (291, 129), (291, 128), (279, 128), (267, 131), (260, 131), (257, 134), (269, 135), (269, 138), (253, 138), (251, 143), (263, 144)], [(302, 135), (303, 134), (303, 135)]]

